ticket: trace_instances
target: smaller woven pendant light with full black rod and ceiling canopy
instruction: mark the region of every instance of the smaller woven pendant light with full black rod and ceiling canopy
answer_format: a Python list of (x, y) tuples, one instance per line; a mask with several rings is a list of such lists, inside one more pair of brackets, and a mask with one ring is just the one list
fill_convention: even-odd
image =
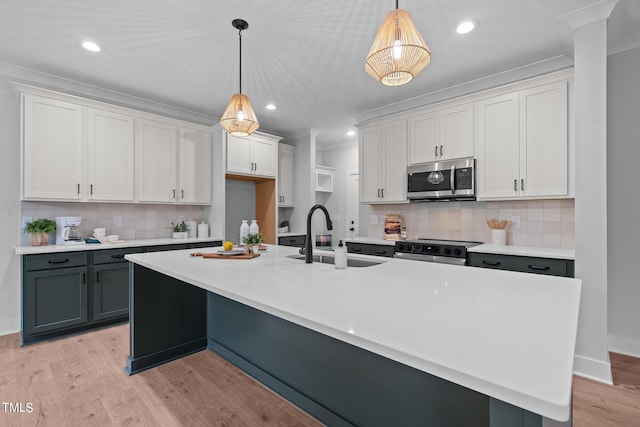
[(227, 105), (222, 118), (220, 118), (220, 124), (233, 136), (249, 136), (258, 130), (260, 126), (249, 103), (249, 98), (242, 94), (242, 30), (249, 28), (249, 24), (243, 19), (234, 19), (231, 25), (238, 30), (238, 39), (240, 41), (240, 72), (238, 79), (240, 90), (238, 91), (239, 93), (231, 97), (229, 105)]

